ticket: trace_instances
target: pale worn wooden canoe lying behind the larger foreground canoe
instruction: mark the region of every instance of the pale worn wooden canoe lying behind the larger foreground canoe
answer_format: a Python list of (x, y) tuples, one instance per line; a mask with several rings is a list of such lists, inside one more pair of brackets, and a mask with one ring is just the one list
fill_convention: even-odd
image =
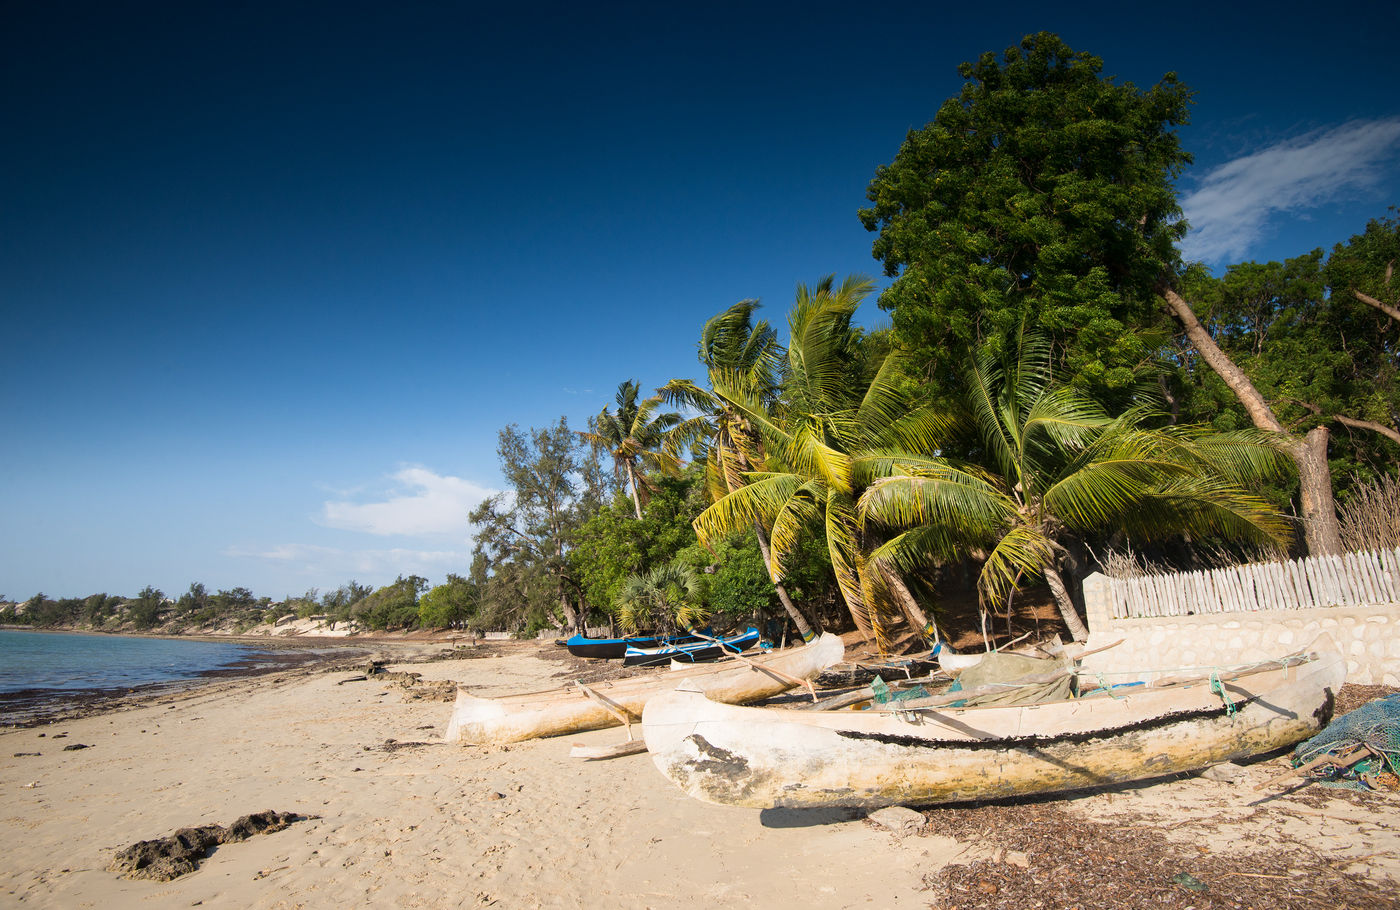
[(715, 701), (742, 704), (767, 699), (812, 679), (841, 662), (846, 648), (837, 636), (745, 659), (686, 666), (682, 671), (613, 679), (581, 686), (570, 683), (547, 692), (482, 699), (462, 687), (447, 727), (448, 742), (507, 743), (536, 736), (559, 736), (585, 729), (641, 721), (641, 710), (654, 696), (682, 680)]

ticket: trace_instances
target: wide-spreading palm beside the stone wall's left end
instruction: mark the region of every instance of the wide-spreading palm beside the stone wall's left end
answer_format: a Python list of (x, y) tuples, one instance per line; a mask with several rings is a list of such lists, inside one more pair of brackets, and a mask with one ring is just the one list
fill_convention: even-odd
[(1152, 430), (1145, 409), (1113, 419), (1051, 382), (1043, 339), (1019, 339), (1012, 356), (1007, 364), (981, 357), (962, 384), (960, 417), (970, 430), (963, 448), (974, 461), (893, 459), (864, 491), (861, 518), (900, 531), (875, 559), (913, 566), (990, 546), (979, 578), (984, 608), (1043, 577), (1067, 629), (1084, 641), (1088, 630), (1063, 573), (1071, 535), (1287, 538), (1278, 512), (1246, 490), (1285, 465), (1271, 435)]

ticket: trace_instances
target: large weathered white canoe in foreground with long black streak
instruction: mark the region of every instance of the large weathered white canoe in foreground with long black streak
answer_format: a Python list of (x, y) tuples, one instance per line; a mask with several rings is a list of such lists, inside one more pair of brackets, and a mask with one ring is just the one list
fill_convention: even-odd
[(930, 805), (1148, 780), (1284, 748), (1329, 721), (1345, 672), (1340, 654), (1322, 651), (1116, 697), (899, 711), (743, 708), (678, 690), (647, 703), (643, 734), (661, 773), (706, 802)]

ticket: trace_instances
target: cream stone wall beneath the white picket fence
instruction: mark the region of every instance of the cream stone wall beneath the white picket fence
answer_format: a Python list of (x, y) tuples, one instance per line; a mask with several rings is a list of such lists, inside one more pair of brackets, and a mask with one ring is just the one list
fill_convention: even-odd
[(1123, 644), (1091, 654), (1084, 668), (1105, 673), (1109, 682), (1151, 679), (1158, 669), (1266, 661), (1326, 634), (1347, 657), (1347, 682), (1400, 686), (1400, 603), (1114, 619), (1107, 582), (1098, 573), (1084, 582), (1088, 650), (1120, 638)]

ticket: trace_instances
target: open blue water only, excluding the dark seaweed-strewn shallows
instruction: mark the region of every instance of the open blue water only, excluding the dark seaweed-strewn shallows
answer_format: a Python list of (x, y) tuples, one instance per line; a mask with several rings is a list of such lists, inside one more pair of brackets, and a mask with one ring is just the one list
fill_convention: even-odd
[(224, 641), (0, 629), (0, 694), (60, 696), (178, 683), (269, 657), (265, 650)]

